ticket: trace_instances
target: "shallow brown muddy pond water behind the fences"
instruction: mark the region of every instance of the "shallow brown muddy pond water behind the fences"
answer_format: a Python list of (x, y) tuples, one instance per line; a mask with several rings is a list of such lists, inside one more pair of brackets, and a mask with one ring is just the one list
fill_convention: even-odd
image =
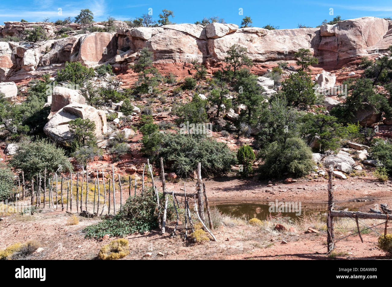
[[(341, 208), (348, 211), (358, 211), (361, 206), (367, 204), (369, 204), (369, 202), (340, 202), (336, 203), (336, 209)], [(327, 215), (327, 204), (307, 204), (303, 202), (301, 203), (300, 209), (299, 203), (297, 203), (297, 205), (292, 205), (291, 209), (289, 209), (290, 206), (287, 204), (286, 208), (283, 209), (279, 209), (279, 205), (274, 209), (270, 209), (269, 204), (260, 203), (210, 203), (211, 208), (214, 206), (216, 206), (216, 208), (218, 208), (222, 213), (232, 215), (234, 217), (243, 217), (247, 220), (254, 217), (264, 220), (269, 215), (276, 216), (279, 213), (282, 216), (291, 217), (294, 220), (298, 219), (301, 215), (317, 215), (319, 217), (325, 217)], [(271, 210), (276, 212), (270, 212)]]

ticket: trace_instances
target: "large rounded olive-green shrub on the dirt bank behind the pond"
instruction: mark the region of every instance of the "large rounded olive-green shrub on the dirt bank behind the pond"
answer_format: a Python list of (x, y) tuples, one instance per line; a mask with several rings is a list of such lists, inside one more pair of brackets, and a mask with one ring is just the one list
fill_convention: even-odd
[(294, 177), (309, 174), (314, 166), (312, 151), (302, 139), (289, 138), (286, 142), (273, 142), (260, 152), (263, 159), (261, 176), (263, 178), (283, 176)]

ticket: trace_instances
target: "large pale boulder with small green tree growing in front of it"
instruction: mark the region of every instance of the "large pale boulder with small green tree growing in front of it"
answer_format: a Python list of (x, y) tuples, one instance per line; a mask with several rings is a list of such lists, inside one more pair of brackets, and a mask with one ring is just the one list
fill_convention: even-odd
[(97, 139), (102, 139), (107, 132), (106, 115), (93, 106), (70, 104), (60, 109), (44, 126), (45, 134), (55, 143), (65, 144), (72, 140), (69, 121), (76, 118), (90, 119), (95, 123)]

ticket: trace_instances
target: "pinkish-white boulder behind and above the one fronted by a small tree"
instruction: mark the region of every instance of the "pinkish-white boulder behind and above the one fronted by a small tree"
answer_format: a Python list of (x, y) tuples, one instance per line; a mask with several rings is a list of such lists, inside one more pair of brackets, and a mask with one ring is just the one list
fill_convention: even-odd
[(69, 104), (85, 104), (85, 97), (80, 94), (80, 90), (72, 90), (66, 87), (54, 87), (52, 92), (51, 110), (48, 119), (53, 117), (56, 112)]

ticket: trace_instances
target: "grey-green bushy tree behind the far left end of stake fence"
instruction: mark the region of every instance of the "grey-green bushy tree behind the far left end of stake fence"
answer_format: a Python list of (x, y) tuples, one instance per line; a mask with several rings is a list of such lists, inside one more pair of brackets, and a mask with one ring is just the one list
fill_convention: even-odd
[(21, 143), (19, 150), (13, 155), (10, 164), (16, 170), (24, 171), (25, 179), (31, 179), (45, 168), (48, 173), (73, 170), (71, 163), (62, 148), (57, 148), (45, 139)]

